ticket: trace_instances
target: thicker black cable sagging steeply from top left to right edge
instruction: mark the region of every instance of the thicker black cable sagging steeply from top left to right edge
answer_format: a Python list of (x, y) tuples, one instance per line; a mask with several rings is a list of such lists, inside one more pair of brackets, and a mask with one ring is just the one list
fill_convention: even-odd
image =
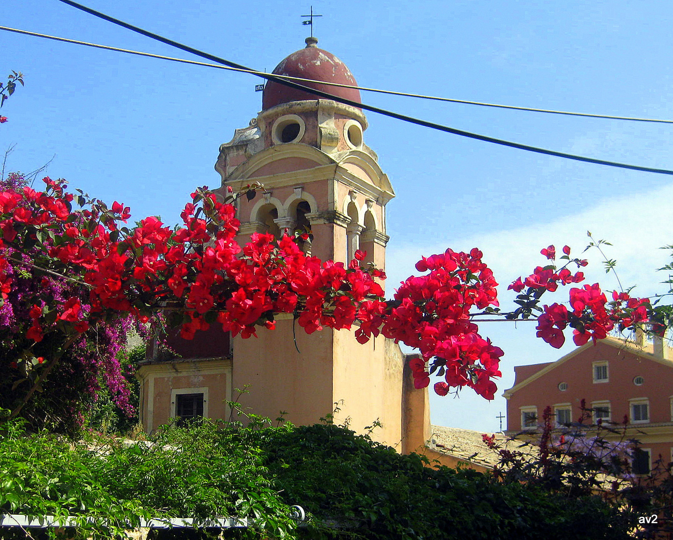
[[(86, 13), (90, 13), (91, 15), (94, 15), (95, 17), (98, 17), (100, 19), (106, 20), (108, 22), (112, 22), (113, 24), (116, 24), (118, 26), (122, 26), (123, 28), (127, 28), (128, 30), (132, 30), (133, 32), (137, 32), (138, 34), (142, 34), (143, 36), (146, 36), (148, 38), (152, 38), (154, 40), (160, 41), (162, 43), (165, 43), (170, 46), (174, 46), (176, 48), (180, 48), (181, 50), (186, 51), (187, 53), (192, 53), (193, 55), (197, 55), (201, 58), (208, 59), (210, 61), (223, 64), (223, 65), (228, 65), (229, 67), (236, 67), (238, 69), (244, 69), (246, 71), (251, 71), (250, 68), (240, 65), (225, 59), (221, 59), (219, 57), (216, 57), (215, 55), (211, 55), (209, 53), (204, 53), (201, 50), (198, 50), (196, 48), (190, 47), (188, 45), (184, 45), (182, 43), (178, 43), (176, 41), (170, 40), (168, 38), (164, 38), (163, 36), (159, 36), (157, 34), (153, 34), (152, 32), (148, 32), (147, 30), (143, 30), (142, 28), (138, 28), (137, 26), (133, 26), (127, 22), (120, 21), (118, 19), (110, 17), (110, 15), (105, 15), (104, 13), (100, 13), (100, 11), (96, 11), (95, 9), (91, 9), (90, 7), (86, 7), (84, 5), (81, 5), (77, 2), (73, 2), (72, 0), (59, 0), (63, 3), (66, 3), (68, 5), (71, 5), (72, 7), (75, 7), (77, 9), (80, 9), (81, 11), (85, 11)], [(495, 143), (503, 146), (508, 146), (511, 148), (518, 148), (521, 150), (526, 150), (526, 151), (532, 151), (535, 152), (536, 154), (544, 154), (546, 156), (556, 156), (558, 158), (565, 158), (568, 160), (575, 160), (575, 161), (580, 161), (580, 162), (586, 162), (586, 163), (594, 163), (598, 165), (605, 165), (605, 166), (610, 166), (610, 167), (617, 167), (617, 168), (623, 168), (623, 169), (629, 169), (629, 170), (639, 170), (643, 172), (655, 172), (658, 174), (670, 174), (673, 175), (673, 170), (668, 170), (668, 169), (656, 169), (656, 168), (649, 168), (649, 167), (641, 167), (637, 165), (629, 165), (625, 163), (617, 163), (617, 162), (610, 162), (606, 160), (597, 160), (594, 158), (586, 158), (584, 156), (575, 156), (573, 154), (565, 154), (563, 152), (558, 152), (555, 150), (548, 150), (544, 148), (538, 148), (534, 146), (529, 146), (529, 145), (524, 145), (520, 143), (514, 143), (511, 141), (505, 141), (503, 139), (495, 139), (494, 137), (488, 137), (487, 135), (479, 135), (478, 133), (470, 133), (469, 131), (462, 131), (460, 129), (454, 129), (452, 127), (444, 126), (441, 124), (433, 123), (433, 122), (428, 122), (425, 120), (421, 119), (416, 119), (413, 118), (412, 116), (406, 116), (405, 114), (399, 114), (397, 112), (392, 112), (390, 110), (385, 110), (379, 107), (367, 105), (364, 103), (358, 103), (354, 102), (351, 100), (347, 100), (345, 98), (341, 98), (340, 96), (333, 96), (332, 94), (328, 94), (327, 92), (322, 92), (322, 90), (316, 90), (315, 88), (309, 88), (307, 86), (303, 86), (301, 84), (295, 83), (293, 81), (287, 81), (285, 79), (282, 79), (281, 77), (277, 77), (276, 75), (273, 75), (272, 73), (260, 73), (258, 75), (259, 77), (263, 77), (264, 79), (270, 80), (270, 81), (275, 81), (279, 84), (283, 84), (285, 86), (289, 86), (290, 88), (295, 88), (296, 90), (302, 90), (303, 92), (308, 92), (310, 94), (314, 94), (316, 96), (320, 96), (322, 98), (327, 98), (329, 100), (333, 100), (336, 102), (340, 102), (346, 105), (353, 106), (355, 108), (361, 108), (364, 110), (369, 110), (371, 112), (377, 112), (378, 114), (383, 114), (384, 116), (390, 116), (391, 118), (402, 120), (405, 122), (413, 123), (416, 125), (421, 125), (424, 127), (429, 127), (431, 129), (436, 129), (437, 131), (444, 131), (445, 133), (452, 133), (454, 135), (460, 135), (461, 137), (468, 137), (470, 139), (476, 139), (479, 141), (485, 141), (489, 143)]]

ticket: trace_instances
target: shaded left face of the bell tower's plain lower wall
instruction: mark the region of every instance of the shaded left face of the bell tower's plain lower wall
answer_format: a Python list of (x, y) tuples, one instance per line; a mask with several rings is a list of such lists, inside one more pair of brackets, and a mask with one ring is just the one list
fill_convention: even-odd
[(275, 419), (287, 411), (295, 424), (314, 424), (332, 412), (332, 331), (307, 335), (297, 325), (297, 353), (292, 324), (278, 320), (273, 331), (258, 329), (258, 339), (234, 338), (234, 388), (250, 385), (240, 402), (252, 413)]

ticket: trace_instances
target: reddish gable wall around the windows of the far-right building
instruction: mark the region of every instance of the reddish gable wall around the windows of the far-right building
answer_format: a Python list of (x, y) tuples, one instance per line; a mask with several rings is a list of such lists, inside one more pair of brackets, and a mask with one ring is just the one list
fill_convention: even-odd
[[(601, 360), (608, 361), (609, 382), (594, 383), (592, 362)], [(648, 398), (650, 421), (670, 422), (673, 362), (669, 364), (662, 365), (599, 341), (513, 393), (507, 403), (507, 429), (521, 429), (519, 407), (526, 405), (538, 405), (541, 416), (545, 405), (571, 403), (573, 419), (577, 419), (581, 399), (586, 399), (588, 407), (592, 401), (610, 401), (612, 420), (621, 421), (625, 414), (631, 416), (629, 399)], [(641, 386), (633, 384), (638, 375), (645, 378)], [(568, 389), (560, 391), (559, 382), (567, 382)]]

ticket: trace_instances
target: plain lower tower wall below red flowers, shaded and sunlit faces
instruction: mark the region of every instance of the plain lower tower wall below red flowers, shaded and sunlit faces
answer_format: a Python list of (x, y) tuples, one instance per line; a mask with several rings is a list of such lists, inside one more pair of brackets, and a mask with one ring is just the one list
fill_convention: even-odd
[(372, 438), (399, 448), (402, 360), (398, 345), (386, 347), (382, 337), (361, 345), (355, 340), (355, 329), (306, 335), (297, 327), (301, 351), (297, 353), (291, 325), (291, 320), (279, 320), (275, 331), (258, 329), (258, 339), (235, 338), (234, 387), (250, 385), (239, 399), (244, 407), (271, 419), (287, 411), (285, 418), (295, 424), (314, 424), (339, 402), (341, 410), (334, 421), (348, 418), (352, 429), (363, 432), (379, 419), (383, 428), (374, 430)]

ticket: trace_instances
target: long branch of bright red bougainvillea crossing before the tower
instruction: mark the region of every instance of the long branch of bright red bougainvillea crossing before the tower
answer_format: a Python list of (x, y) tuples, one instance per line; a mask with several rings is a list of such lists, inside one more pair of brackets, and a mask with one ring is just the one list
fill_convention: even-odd
[[(512, 312), (499, 310), (497, 283), (477, 248), (423, 257), (416, 265), (423, 275), (406, 279), (386, 301), (376, 281), (385, 275), (363, 263), (363, 252), (345, 266), (305, 255), (287, 234), (277, 239), (255, 233), (239, 246), (232, 203), (243, 193), (222, 200), (197, 189), (182, 211), (182, 226), (168, 228), (157, 217), (146, 217), (129, 228), (129, 207), (116, 201), (108, 207), (81, 191), (67, 193), (63, 180), (44, 178), (44, 183), (44, 191), (24, 185), (0, 193), (0, 294), (7, 300), (15, 292), (22, 267), (69, 281), (78, 292), (60, 302), (25, 296), (20, 320), (5, 330), (5, 341), (13, 340), (17, 351), (17, 384), (33, 383), (24, 405), (42, 378), (24, 376), (21, 382), (25, 373), (20, 372), (44, 373), (54, 365), (34, 362), (39, 343), (47, 337), (58, 343), (50, 354), (60, 358), (79, 335), (129, 315), (145, 323), (166, 312), (184, 339), (210, 325), (248, 338), (256, 327), (273, 329), (281, 313), (293, 314), (306, 333), (355, 325), (360, 343), (383, 335), (419, 349), (421, 358), (411, 362), (417, 388), (437, 376), (439, 395), (467, 386), (486, 399), (497, 390), (493, 378), (501, 375), (503, 351), (481, 337), (476, 316), (516, 320), (539, 314), (538, 337), (554, 347), (563, 344), (567, 326), (581, 344), (648, 316), (647, 300), (615, 292), (608, 302), (598, 284), (571, 288), (569, 308), (540, 307), (543, 294), (583, 280), (581, 271), (567, 267), (586, 261), (571, 259), (567, 246), (560, 257), (563, 267), (557, 269), (555, 248), (548, 246), (542, 255), (551, 263), (509, 286), (520, 293)], [(249, 186), (244, 194), (250, 199), (258, 187)]]

